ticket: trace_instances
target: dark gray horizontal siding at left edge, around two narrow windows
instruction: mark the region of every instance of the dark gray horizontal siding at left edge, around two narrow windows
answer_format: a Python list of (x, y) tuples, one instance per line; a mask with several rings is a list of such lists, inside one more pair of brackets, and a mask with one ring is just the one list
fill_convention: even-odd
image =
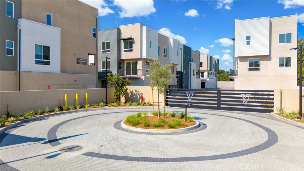
[[(9, 1), (14, 3), (14, 17), (6, 16), (6, 1), (0, 1), (0, 69), (17, 71), (18, 58), (18, 28), (17, 19), (21, 18), (21, 1)], [(22, 28), (21, 28), (22, 29)], [(6, 40), (14, 41), (14, 56), (6, 56)]]

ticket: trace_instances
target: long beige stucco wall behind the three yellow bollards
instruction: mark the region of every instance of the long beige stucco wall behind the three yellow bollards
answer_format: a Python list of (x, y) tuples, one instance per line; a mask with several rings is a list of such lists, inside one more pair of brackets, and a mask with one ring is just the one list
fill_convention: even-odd
[[(113, 101), (113, 88), (108, 89), (108, 101)], [(102, 89), (65, 89), (65, 90), (40, 90), (40, 91), (10, 91), (0, 92), (1, 115), (7, 110), (12, 115), (17, 115), (29, 110), (43, 110), (49, 107), (64, 105), (64, 95), (67, 94), (67, 105), (85, 104), (85, 93), (88, 93), (88, 103), (98, 103), (105, 100), (105, 88)], [(7, 109), (8, 107), (8, 109)]]

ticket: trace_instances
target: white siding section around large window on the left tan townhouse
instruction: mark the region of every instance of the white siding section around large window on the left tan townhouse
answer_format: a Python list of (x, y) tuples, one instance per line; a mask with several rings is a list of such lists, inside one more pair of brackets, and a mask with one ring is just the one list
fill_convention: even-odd
[[(18, 19), (18, 24), (21, 26), (21, 71), (60, 73), (60, 28), (27, 19)], [(35, 44), (50, 47), (50, 65), (35, 64)]]

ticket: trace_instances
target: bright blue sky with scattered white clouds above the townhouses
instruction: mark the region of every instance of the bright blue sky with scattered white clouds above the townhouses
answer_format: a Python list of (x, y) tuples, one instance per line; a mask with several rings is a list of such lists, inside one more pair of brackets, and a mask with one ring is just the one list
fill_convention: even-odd
[[(83, 0), (84, 1), (84, 0)], [(233, 68), (234, 20), (297, 14), (298, 39), (304, 32), (304, 1), (84, 1), (99, 9), (98, 30), (143, 23)]]

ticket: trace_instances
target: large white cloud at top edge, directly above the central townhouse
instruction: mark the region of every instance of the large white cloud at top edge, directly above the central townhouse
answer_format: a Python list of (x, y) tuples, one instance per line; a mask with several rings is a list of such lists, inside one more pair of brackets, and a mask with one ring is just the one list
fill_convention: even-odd
[(140, 17), (149, 16), (154, 13), (154, 2), (152, 0), (141, 0), (141, 1), (121, 1), (114, 0), (114, 5), (117, 5), (121, 11), (119, 17)]

